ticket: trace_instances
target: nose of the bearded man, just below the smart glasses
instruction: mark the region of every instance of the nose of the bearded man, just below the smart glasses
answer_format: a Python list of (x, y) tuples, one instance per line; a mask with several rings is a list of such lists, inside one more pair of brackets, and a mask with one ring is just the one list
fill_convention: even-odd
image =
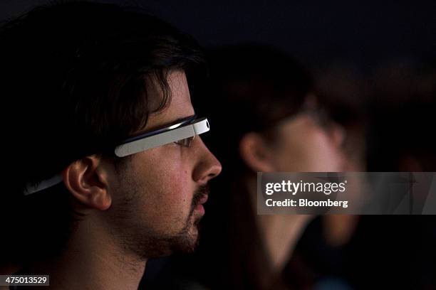
[(198, 138), (194, 141), (198, 142), (196, 154), (199, 154), (199, 159), (192, 173), (192, 178), (198, 183), (205, 184), (221, 173), (222, 166), (217, 157), (203, 143), (202, 139)]

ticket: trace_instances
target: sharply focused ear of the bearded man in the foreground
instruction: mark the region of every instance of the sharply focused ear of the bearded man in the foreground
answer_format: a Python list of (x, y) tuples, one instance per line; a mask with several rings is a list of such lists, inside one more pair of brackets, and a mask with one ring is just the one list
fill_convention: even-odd
[(112, 203), (108, 192), (108, 165), (100, 156), (86, 156), (62, 171), (63, 183), (88, 208), (107, 210)]

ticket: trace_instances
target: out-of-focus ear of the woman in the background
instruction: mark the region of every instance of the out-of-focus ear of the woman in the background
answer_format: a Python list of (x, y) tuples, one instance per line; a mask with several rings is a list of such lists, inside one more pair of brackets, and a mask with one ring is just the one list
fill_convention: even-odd
[(239, 154), (246, 165), (254, 172), (274, 171), (271, 149), (257, 133), (251, 132), (242, 136), (239, 141)]

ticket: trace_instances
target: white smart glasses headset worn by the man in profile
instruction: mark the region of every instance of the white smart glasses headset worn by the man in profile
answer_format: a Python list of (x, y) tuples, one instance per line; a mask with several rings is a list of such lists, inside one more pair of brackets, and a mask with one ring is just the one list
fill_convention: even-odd
[[(196, 135), (209, 131), (209, 122), (206, 118), (196, 119), (197, 115), (181, 119), (160, 129), (148, 131), (138, 136), (133, 136), (115, 147), (115, 156), (125, 157), (158, 146), (177, 143), (181, 146), (191, 146)], [(36, 186), (28, 185), (24, 195), (36, 193), (62, 182), (61, 174), (41, 181)]]

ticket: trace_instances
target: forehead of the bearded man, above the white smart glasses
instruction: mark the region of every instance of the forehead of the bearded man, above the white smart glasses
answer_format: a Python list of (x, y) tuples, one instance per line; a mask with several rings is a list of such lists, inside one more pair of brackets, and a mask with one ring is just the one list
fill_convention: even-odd
[(170, 102), (164, 109), (150, 114), (146, 130), (162, 127), (194, 114), (185, 73), (182, 70), (171, 71), (168, 73), (167, 82), (171, 92)]

